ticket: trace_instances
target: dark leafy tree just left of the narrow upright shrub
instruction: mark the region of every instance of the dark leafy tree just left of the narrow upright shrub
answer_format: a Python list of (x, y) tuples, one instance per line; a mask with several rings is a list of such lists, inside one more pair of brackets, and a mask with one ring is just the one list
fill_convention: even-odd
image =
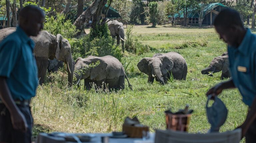
[(140, 22), (140, 24), (144, 25), (146, 20), (145, 3), (142, 0), (132, 0), (132, 3), (130, 24), (137, 24)]

